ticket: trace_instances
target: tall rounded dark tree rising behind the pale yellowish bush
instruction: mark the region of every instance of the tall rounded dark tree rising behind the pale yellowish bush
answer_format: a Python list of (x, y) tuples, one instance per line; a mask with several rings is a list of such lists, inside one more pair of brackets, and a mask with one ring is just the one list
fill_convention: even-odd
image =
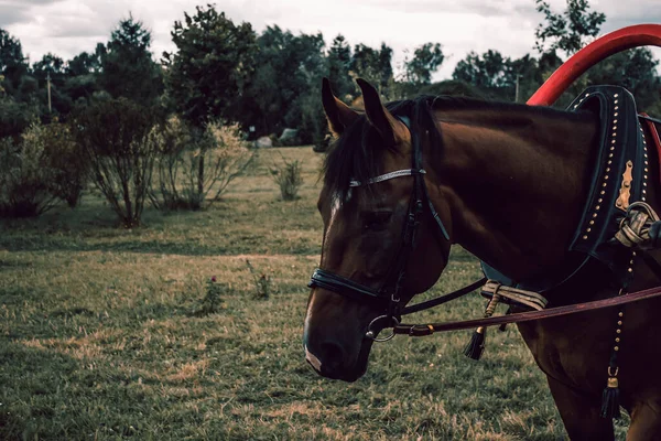
[(197, 7), (171, 34), (177, 52), (163, 57), (175, 110), (198, 128), (218, 118), (236, 121), (258, 50), (250, 23), (235, 25), (213, 6)]

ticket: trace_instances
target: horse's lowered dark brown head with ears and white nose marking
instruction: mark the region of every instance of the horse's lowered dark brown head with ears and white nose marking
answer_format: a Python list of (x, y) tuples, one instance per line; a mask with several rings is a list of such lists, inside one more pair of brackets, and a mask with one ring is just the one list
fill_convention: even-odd
[[(412, 132), (395, 110), (381, 104), (369, 83), (358, 79), (358, 85), (364, 112), (337, 99), (328, 80), (323, 84), (324, 109), (336, 138), (317, 203), (324, 219), (321, 269), (328, 283), (322, 276), (316, 282), (313, 277), (304, 331), (306, 359), (314, 369), (348, 381), (367, 369), (373, 343), (366, 336), (370, 323), (386, 315), (381, 324), (388, 325), (398, 309), (432, 287), (449, 252), (449, 241), (436, 239), (437, 226), (429, 211), (413, 206), (420, 203), (412, 196), (420, 193), (416, 180), (424, 176), (415, 176), (419, 171), (411, 165)], [(437, 135), (427, 131), (425, 140), (431, 132)], [(395, 171), (410, 173), (393, 175)], [(429, 191), (437, 194), (441, 189)], [(420, 213), (411, 229), (415, 208)], [(451, 226), (448, 218), (444, 225)], [(408, 240), (408, 235), (415, 237)]]

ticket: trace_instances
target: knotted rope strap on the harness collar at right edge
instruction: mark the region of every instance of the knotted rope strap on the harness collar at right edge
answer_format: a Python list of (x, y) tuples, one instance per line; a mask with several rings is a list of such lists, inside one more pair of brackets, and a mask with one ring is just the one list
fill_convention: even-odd
[(659, 215), (644, 202), (635, 202), (627, 208), (615, 238), (628, 248), (654, 249), (661, 247)]

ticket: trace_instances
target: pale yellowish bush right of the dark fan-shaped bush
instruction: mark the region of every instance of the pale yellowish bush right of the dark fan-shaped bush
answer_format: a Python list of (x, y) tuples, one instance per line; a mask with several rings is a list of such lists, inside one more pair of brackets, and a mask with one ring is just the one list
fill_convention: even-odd
[(213, 122), (199, 130), (173, 117), (156, 140), (160, 158), (150, 200), (163, 211), (208, 207), (254, 158), (238, 125)]

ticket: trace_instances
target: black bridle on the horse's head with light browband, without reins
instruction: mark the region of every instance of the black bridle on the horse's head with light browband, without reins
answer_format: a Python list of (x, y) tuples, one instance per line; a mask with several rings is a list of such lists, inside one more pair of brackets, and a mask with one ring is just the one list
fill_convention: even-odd
[[(402, 241), (397, 254), (397, 259), (388, 271), (389, 277), (383, 281), (380, 288), (372, 289), (361, 283), (355, 282), (350, 279), (342, 277), (339, 275), (326, 271), (317, 268), (307, 284), (310, 288), (322, 288), (328, 291), (333, 291), (340, 295), (349, 299), (364, 302), (372, 303), (377, 305), (383, 305), (387, 313), (386, 315), (378, 316), (368, 326), (367, 337), (376, 341), (387, 341), (392, 338), (389, 335), (384, 338), (376, 338), (376, 335), (384, 327), (389, 325), (399, 324), (398, 318), (402, 315), (402, 309), (400, 305), (400, 292), (402, 284), (405, 280), (407, 265), (409, 258), (413, 254), (418, 239), (418, 230), (420, 227), (420, 220), (425, 211), (429, 209), (430, 214), (436, 222), (438, 230), (445, 240), (449, 240), (447, 230), (438, 216), (438, 213), (434, 208), (432, 201), (430, 200), (427, 189), (424, 182), (424, 174), (426, 173), (422, 168), (422, 147), (420, 137), (413, 130), (411, 130), (411, 123), (409, 118), (399, 117), (400, 121), (403, 122), (409, 132), (411, 133), (411, 143), (413, 146), (413, 152), (411, 154), (412, 164), (411, 169), (398, 170), (394, 172), (381, 174), (369, 179), (366, 182), (351, 181), (350, 187), (358, 187), (362, 185), (372, 185), (379, 182), (388, 181), (395, 178), (413, 176), (413, 192), (409, 202), (409, 212), (404, 223), (402, 232)], [(437, 303), (436, 303), (437, 304)]]

